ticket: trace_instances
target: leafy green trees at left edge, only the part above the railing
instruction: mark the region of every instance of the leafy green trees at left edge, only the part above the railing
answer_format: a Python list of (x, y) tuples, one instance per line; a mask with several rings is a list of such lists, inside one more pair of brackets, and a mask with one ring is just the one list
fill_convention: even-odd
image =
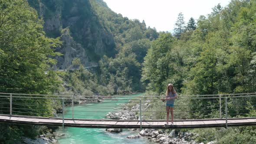
[(48, 70), (56, 56), (52, 47), (59, 39), (47, 38), (42, 20), (23, 0), (1, 1), (0, 91), (12, 93), (48, 93), (54, 74)]

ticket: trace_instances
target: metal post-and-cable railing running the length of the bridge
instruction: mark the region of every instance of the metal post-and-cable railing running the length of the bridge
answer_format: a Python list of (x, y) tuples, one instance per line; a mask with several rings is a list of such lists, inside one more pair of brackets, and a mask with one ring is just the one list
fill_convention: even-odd
[[(0, 93), (0, 114), (41, 117), (162, 120), (164, 96), (83, 96)], [(174, 119), (248, 117), (256, 108), (256, 94), (180, 95)], [(170, 115), (171, 116), (171, 115)], [(64, 122), (63, 122), (64, 124)]]

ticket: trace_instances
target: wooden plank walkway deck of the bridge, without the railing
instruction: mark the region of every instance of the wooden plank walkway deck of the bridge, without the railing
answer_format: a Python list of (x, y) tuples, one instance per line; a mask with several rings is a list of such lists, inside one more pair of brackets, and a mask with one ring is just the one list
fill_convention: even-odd
[[(40, 124), (51, 126), (62, 126), (61, 118), (43, 118), (32, 116), (0, 115), (0, 122), (13, 124)], [(256, 125), (256, 118), (229, 118), (228, 126)], [(124, 121), (108, 119), (70, 119), (64, 120), (66, 127), (84, 128), (210, 128), (225, 127), (226, 119), (201, 119), (201, 120), (174, 120), (174, 125), (164, 126), (164, 120), (150, 121)]]

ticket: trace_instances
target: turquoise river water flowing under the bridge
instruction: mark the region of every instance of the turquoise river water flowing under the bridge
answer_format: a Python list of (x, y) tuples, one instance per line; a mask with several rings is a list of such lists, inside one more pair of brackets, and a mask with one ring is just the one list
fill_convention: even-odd
[[(142, 94), (126, 95), (125, 98), (136, 98)], [(123, 97), (122, 97), (123, 98)], [(90, 103), (74, 106), (74, 118), (105, 118), (108, 111), (121, 111), (122, 105), (129, 100), (104, 100), (101, 103)], [(115, 109), (114, 109), (115, 108)], [(72, 108), (66, 108), (65, 118), (72, 118)], [(98, 112), (92, 112), (98, 111)], [(58, 130), (65, 136), (56, 137), (60, 144), (155, 144), (146, 137), (136, 139), (126, 138), (128, 135), (138, 135), (138, 131), (123, 129), (121, 133), (109, 133), (105, 128), (72, 128), (66, 127)]]

